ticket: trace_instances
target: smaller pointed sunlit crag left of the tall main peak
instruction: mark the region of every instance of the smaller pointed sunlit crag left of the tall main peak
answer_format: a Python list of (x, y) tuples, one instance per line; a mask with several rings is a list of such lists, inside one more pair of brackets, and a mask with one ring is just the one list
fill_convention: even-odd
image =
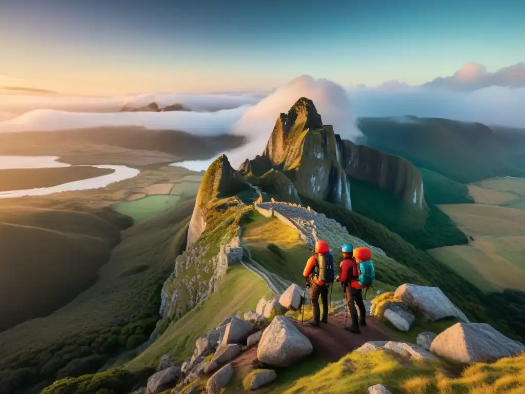
[(188, 246), (195, 243), (206, 229), (207, 204), (211, 200), (231, 196), (247, 188), (250, 184), (232, 168), (225, 154), (215, 159), (204, 173), (198, 189), (188, 228)]

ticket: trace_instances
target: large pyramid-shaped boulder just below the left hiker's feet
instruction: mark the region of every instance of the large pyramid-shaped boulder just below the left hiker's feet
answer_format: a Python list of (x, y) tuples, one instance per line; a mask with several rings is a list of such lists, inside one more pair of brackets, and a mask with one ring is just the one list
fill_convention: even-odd
[(257, 359), (267, 365), (287, 367), (310, 355), (312, 344), (286, 316), (276, 316), (262, 333)]

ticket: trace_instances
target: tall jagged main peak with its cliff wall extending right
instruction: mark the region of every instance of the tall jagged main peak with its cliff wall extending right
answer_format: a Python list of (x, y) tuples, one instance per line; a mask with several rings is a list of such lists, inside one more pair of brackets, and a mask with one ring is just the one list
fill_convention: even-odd
[[(351, 209), (349, 178), (386, 189), (422, 208), (421, 173), (410, 162), (351, 141), (323, 126), (313, 102), (300, 98), (281, 113), (262, 156), (243, 169), (266, 168), (267, 159), (286, 174), (300, 193)], [(261, 165), (264, 164), (264, 165)], [(260, 171), (260, 170), (259, 170)]]

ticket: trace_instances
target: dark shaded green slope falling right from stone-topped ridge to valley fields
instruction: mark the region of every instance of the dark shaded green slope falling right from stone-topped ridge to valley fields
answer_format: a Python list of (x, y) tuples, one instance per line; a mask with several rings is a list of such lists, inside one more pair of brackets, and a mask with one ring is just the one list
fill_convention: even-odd
[[(516, 337), (516, 334), (519, 334), (521, 338), (525, 337), (525, 329), (523, 329), (525, 327), (522, 327), (519, 318), (508, 319), (507, 313), (510, 311), (504, 313), (499, 303), (499, 306), (494, 305), (494, 300), (486, 297), (476, 286), (457, 275), (445, 264), (435, 260), (428, 253), (418, 250), (397, 234), (388, 231), (383, 225), (333, 204), (307, 199), (304, 196), (301, 196), (301, 200), (314, 210), (339, 221), (348, 229), (349, 233), (372, 245), (381, 247), (388, 256), (425, 278), (425, 282), (421, 284), (432, 284), (441, 288), (469, 318), (491, 323), (507, 335)], [(512, 303), (516, 303), (516, 301), (514, 300)], [(512, 308), (519, 310), (519, 303), (513, 304)]]

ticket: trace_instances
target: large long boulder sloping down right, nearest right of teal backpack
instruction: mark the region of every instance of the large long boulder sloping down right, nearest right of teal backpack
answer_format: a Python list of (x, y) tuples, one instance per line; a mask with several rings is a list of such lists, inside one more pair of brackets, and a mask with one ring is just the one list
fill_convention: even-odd
[(465, 314), (448, 299), (439, 287), (405, 283), (396, 289), (394, 295), (410, 308), (420, 312), (427, 320), (457, 317), (462, 322), (469, 323)]

